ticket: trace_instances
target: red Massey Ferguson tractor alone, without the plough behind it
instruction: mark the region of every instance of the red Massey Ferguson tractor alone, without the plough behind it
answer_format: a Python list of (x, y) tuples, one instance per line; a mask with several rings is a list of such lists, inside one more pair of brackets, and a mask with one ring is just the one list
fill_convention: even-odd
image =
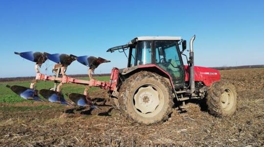
[[(145, 124), (164, 121), (172, 113), (174, 99), (184, 108), (185, 100), (205, 98), (209, 113), (215, 116), (235, 112), (235, 87), (221, 82), (219, 71), (194, 66), (194, 40), (195, 35), (190, 41), (189, 60), (183, 54), (186, 40), (181, 37), (137, 37), (107, 50), (129, 49), (127, 68), (112, 73), (111, 77), (118, 74), (119, 78), (115, 90), (110, 91), (125, 117)], [(182, 56), (188, 65), (183, 64)]]

